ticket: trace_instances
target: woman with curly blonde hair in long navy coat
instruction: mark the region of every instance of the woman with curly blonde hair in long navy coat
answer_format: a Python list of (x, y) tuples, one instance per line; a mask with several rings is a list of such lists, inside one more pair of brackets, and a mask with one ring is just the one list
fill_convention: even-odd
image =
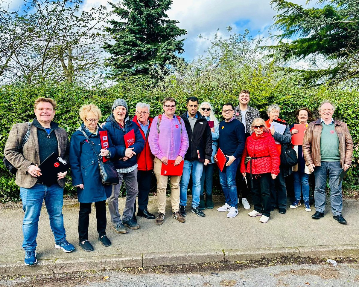
[[(84, 251), (93, 251), (88, 241), (89, 214), (91, 204), (95, 203), (98, 240), (102, 245), (109, 246), (111, 241), (106, 236), (106, 198), (111, 195), (111, 185), (102, 184), (98, 167), (98, 157), (113, 158), (116, 150), (108, 138), (108, 148), (101, 149), (98, 125), (101, 111), (97, 106), (84, 105), (80, 108), (80, 118), (84, 123), (74, 132), (70, 141), (70, 164), (72, 185), (77, 187), (77, 197), (80, 202), (79, 212), (79, 245)], [(86, 139), (83, 131), (87, 134)], [(93, 148), (96, 150), (94, 152)]]

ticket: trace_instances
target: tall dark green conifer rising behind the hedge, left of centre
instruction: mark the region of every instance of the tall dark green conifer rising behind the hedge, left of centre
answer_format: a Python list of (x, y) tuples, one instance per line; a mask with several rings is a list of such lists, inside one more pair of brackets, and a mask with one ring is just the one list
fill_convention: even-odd
[(111, 54), (110, 78), (148, 75), (151, 67), (164, 67), (170, 59), (180, 58), (183, 41), (178, 39), (187, 31), (177, 27), (179, 21), (168, 19), (172, 0), (122, 0), (112, 4), (120, 21), (109, 20), (107, 27), (115, 43), (106, 42), (104, 49)]

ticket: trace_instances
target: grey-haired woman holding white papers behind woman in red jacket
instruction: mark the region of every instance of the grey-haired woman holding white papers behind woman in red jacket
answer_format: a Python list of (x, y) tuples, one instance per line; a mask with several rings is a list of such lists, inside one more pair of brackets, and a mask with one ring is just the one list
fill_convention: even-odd
[[(267, 107), (269, 119), (266, 120), (266, 126), (269, 128), (272, 137), (275, 139), (277, 152), (280, 156), (281, 149), (284, 148), (283, 144), (289, 144), (291, 142), (292, 135), (290, 134), (289, 125), (286, 121), (279, 118), (279, 113), (280, 107), (277, 104), (272, 104)], [(272, 125), (274, 120), (285, 125), (283, 133), (276, 131), (274, 125)], [(278, 207), (279, 213), (285, 214), (287, 208), (287, 189), (284, 177), (292, 173), (292, 167), (287, 167), (284, 166), (283, 163), (280, 163), (279, 171), (278, 176), (271, 184), (271, 211)]]

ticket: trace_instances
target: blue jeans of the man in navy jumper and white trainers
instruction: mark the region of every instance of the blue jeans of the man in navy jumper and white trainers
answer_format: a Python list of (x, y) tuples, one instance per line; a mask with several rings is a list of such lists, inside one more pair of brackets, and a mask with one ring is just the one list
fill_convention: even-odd
[(222, 185), (225, 203), (229, 206), (238, 207), (236, 173), (240, 159), (236, 159), (230, 166), (225, 166), (223, 171), (219, 170), (219, 183)]

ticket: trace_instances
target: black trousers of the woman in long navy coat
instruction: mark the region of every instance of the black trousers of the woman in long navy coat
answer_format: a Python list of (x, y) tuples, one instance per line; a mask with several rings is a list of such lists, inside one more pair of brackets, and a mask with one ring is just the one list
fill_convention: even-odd
[[(97, 232), (98, 236), (106, 235), (106, 200), (95, 202)], [(80, 202), (79, 211), (79, 239), (88, 240), (89, 214), (91, 213), (91, 203)]]

